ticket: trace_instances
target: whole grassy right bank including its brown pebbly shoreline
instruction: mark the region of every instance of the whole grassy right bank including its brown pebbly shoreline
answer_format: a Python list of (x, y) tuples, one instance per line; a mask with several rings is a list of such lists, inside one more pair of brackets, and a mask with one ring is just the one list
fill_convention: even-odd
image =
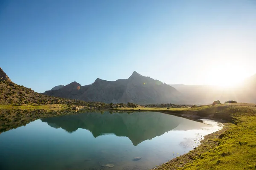
[(232, 124), (209, 134), (195, 150), (155, 168), (157, 170), (242, 170), (256, 169), (256, 105), (220, 104), (189, 108), (205, 115), (231, 117)]

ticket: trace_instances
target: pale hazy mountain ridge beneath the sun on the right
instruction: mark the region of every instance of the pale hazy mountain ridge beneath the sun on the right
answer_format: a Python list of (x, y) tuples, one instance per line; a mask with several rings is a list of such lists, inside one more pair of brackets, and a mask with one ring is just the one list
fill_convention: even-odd
[(215, 100), (256, 103), (256, 74), (240, 85), (220, 87), (216, 85), (171, 85), (183, 95), (185, 103), (195, 105), (211, 104)]

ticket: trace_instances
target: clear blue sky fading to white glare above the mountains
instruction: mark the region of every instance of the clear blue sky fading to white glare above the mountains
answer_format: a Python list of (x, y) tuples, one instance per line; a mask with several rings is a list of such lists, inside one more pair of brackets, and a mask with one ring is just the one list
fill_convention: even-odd
[(255, 0), (0, 0), (0, 67), (38, 92), (133, 71), (218, 84), (255, 64)]

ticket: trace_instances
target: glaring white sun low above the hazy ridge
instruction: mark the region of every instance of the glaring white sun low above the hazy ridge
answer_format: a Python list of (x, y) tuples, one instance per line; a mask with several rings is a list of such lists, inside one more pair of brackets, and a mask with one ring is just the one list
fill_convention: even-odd
[(220, 64), (205, 73), (206, 84), (222, 87), (236, 86), (246, 77), (245, 69), (239, 65)]

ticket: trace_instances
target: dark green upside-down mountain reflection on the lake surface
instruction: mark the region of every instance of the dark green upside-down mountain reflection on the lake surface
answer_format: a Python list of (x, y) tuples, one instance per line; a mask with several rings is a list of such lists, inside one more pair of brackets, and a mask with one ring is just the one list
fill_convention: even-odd
[[(170, 130), (198, 129), (200, 123), (181, 117), (156, 113), (84, 113), (41, 119), (54, 128), (62, 128), (69, 133), (78, 128), (90, 130), (93, 136), (115, 134), (126, 136), (136, 146), (141, 142), (153, 139)], [(207, 126), (207, 125), (205, 125)]]

